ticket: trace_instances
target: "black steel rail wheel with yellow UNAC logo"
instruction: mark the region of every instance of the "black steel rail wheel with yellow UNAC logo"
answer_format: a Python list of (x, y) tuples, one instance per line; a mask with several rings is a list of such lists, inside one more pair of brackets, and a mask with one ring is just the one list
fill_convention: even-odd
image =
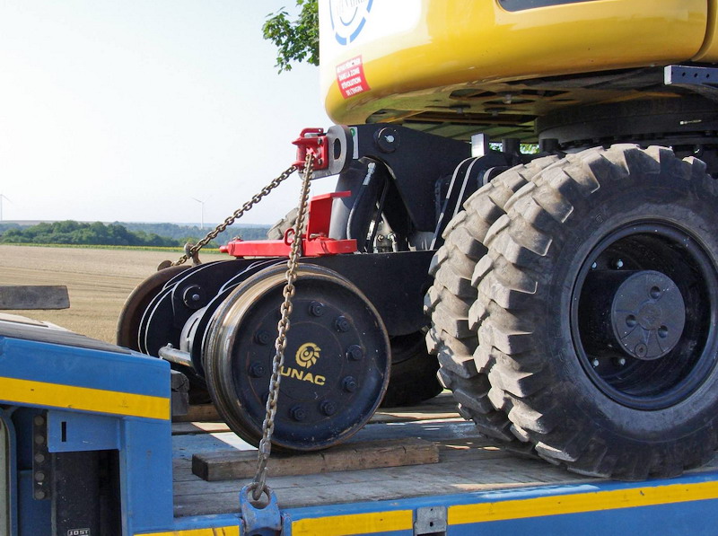
[[(285, 265), (242, 282), (206, 332), (212, 400), (232, 431), (262, 437)], [(297, 271), (272, 444), (312, 451), (339, 444), (372, 417), (387, 389), (390, 347), (372, 303), (333, 270)]]

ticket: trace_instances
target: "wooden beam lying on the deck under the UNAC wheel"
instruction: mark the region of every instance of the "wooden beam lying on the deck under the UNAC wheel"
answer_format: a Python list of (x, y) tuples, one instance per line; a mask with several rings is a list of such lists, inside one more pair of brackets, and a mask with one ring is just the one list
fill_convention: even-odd
[[(390, 439), (342, 444), (315, 453), (273, 453), (267, 465), (267, 474), (270, 477), (285, 477), (438, 462), (439, 449), (431, 441)], [(256, 451), (221, 451), (192, 456), (192, 472), (208, 481), (249, 479), (256, 470)]]

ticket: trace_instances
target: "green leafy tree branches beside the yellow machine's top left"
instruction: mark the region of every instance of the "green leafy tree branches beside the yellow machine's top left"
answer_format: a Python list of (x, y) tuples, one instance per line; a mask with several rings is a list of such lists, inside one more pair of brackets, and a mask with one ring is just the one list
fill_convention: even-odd
[(299, 16), (292, 21), (283, 7), (267, 15), (262, 27), (264, 39), (277, 48), (276, 67), (279, 72), (291, 71), (292, 62), (306, 61), (320, 65), (320, 19), (317, 0), (296, 0)]

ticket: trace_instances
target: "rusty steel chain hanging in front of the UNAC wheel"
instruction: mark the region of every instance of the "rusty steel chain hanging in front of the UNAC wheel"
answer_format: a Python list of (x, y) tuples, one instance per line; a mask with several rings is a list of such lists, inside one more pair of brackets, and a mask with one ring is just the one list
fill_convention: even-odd
[(299, 198), (299, 206), (297, 206), (297, 217), (294, 223), (294, 240), (289, 253), (289, 259), (286, 263), (286, 285), (283, 292), (285, 301), (280, 307), (282, 318), (277, 323), (277, 336), (275, 341), (275, 356), (272, 360), (272, 377), (269, 380), (269, 396), (267, 397), (267, 413), (262, 423), (262, 439), (259, 442), (257, 473), (254, 476), (250, 488), (252, 490), (252, 499), (258, 501), (262, 493), (267, 492), (267, 462), (269, 454), (272, 451), (272, 434), (275, 430), (276, 401), (279, 396), (279, 382), (282, 380), (280, 371), (285, 361), (286, 333), (289, 331), (290, 322), (289, 315), (292, 314), (292, 298), (295, 292), (294, 281), (297, 278), (297, 268), (299, 265), (299, 257), (302, 254), (302, 231), (304, 228), (304, 217), (309, 204), (309, 183), (311, 180), (311, 170), (313, 166), (313, 156), (307, 154), (307, 160), (304, 164), (304, 177), (302, 180), (302, 194)]

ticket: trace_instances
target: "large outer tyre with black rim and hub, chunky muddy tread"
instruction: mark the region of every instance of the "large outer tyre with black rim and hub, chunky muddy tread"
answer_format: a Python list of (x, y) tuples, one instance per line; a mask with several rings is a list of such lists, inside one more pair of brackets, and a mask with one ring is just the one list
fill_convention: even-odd
[(718, 189), (670, 149), (565, 158), (517, 198), (477, 282), (489, 399), (548, 461), (669, 477), (718, 444)]

